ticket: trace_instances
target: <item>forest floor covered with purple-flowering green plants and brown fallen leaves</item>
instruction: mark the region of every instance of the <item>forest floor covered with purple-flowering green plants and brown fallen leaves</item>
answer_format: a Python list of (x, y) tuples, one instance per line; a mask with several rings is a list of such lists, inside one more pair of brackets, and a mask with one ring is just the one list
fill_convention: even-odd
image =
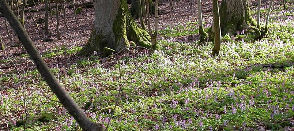
[[(294, 131), (294, 3), (287, 2), (285, 11), (281, 1), (274, 3), (265, 38), (253, 41), (251, 33), (223, 36), (220, 57), (214, 58), (213, 43), (198, 44), (195, 0), (192, 6), (189, 0), (174, 1), (173, 12), (168, 1), (160, 1), (160, 50), (150, 56), (138, 48), (107, 59), (76, 56), (89, 39), (93, 8), (84, 8), (76, 22), (66, 3), (69, 29), (60, 11), (61, 40), (55, 36), (55, 16), (49, 20), (50, 36), (37, 31), (28, 13), (25, 27), (51, 71), (92, 121), (106, 125), (120, 96), (109, 130)], [(269, 1), (262, 1), (262, 21), (268, 6)], [(44, 5), (36, 7), (40, 10)], [(255, 1), (251, 7), (256, 18)], [(207, 30), (212, 23), (211, 2), (203, 0), (202, 9)], [(32, 15), (38, 21), (44, 12)], [(56, 102), (28, 54), (15, 46), (17, 36), (8, 25), (9, 40), (5, 18), (0, 21), (6, 45), (0, 50), (0, 130), (23, 130), (24, 96), (26, 130), (81, 130)], [(42, 22), (39, 27), (43, 28)], [(43, 42), (45, 37), (53, 41)], [(119, 93), (120, 83), (125, 84)]]

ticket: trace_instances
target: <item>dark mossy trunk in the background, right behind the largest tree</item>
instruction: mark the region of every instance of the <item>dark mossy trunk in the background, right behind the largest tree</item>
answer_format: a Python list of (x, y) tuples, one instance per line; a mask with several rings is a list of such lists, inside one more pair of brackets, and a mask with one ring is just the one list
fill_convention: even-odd
[[(155, 14), (155, 6), (154, 6), (154, 3), (152, 2), (152, 0), (144, 0), (144, 1), (148, 1), (148, 3), (149, 3), (149, 13), (150, 13), (150, 15)], [(139, 14), (139, 12), (140, 12), (139, 2), (140, 2), (140, 0), (132, 0), (130, 12), (131, 12), (131, 15), (134, 17), (134, 19), (138, 19), (139, 15), (140, 15)], [(145, 4), (145, 2), (141, 2), (141, 7), (142, 7), (142, 15), (146, 16), (146, 4)]]

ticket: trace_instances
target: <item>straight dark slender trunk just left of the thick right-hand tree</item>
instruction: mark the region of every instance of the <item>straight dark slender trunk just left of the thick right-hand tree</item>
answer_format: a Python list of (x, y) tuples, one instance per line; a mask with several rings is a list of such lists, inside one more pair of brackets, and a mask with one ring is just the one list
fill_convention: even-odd
[(220, 12), (218, 10), (218, 0), (212, 1), (213, 5), (213, 25), (214, 25), (214, 47), (212, 50), (212, 56), (219, 55), (220, 53)]

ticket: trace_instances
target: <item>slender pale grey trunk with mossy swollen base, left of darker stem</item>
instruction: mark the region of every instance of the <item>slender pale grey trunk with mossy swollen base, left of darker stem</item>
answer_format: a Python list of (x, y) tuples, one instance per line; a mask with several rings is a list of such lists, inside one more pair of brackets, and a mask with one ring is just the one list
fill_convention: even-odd
[(201, 9), (201, 0), (197, 0), (197, 8), (198, 8), (198, 29), (200, 34), (200, 43), (207, 40), (208, 34), (203, 29), (202, 24), (202, 9)]

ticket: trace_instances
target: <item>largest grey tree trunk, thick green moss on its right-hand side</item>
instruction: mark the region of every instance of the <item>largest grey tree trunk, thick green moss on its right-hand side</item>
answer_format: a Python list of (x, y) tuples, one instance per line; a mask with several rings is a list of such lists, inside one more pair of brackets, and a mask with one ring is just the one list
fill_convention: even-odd
[(131, 16), (126, 0), (99, 0), (94, 2), (95, 20), (91, 36), (78, 55), (90, 56), (106, 49), (120, 51), (130, 46), (129, 40), (138, 46), (150, 47), (150, 36), (138, 27)]

